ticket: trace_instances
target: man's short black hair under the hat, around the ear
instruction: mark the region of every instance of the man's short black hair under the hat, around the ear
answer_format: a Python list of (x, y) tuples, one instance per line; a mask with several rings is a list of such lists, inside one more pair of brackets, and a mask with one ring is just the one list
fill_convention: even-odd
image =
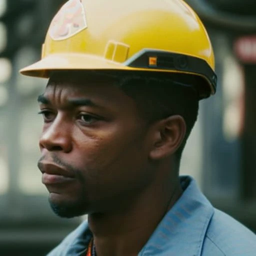
[(186, 123), (186, 133), (175, 152), (179, 165), (182, 151), (198, 115), (200, 78), (193, 75), (124, 75), (120, 89), (137, 104), (139, 114), (149, 124), (171, 115), (180, 115)]

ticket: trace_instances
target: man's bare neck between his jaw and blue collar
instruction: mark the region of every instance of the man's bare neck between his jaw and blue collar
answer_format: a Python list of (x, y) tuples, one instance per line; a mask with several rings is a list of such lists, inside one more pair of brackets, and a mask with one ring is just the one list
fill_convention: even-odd
[(177, 181), (154, 184), (125, 211), (89, 214), (97, 256), (135, 256), (182, 193)]

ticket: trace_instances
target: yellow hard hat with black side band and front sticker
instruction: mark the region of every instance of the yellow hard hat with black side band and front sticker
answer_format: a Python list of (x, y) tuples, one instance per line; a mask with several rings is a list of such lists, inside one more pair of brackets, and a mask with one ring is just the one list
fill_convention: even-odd
[(20, 72), (47, 78), (54, 70), (193, 74), (208, 95), (217, 80), (207, 32), (182, 0), (68, 0), (51, 21), (41, 60)]

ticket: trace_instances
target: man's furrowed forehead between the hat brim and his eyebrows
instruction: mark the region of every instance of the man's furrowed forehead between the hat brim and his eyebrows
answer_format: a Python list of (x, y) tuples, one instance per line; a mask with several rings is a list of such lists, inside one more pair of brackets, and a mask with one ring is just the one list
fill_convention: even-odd
[[(93, 104), (111, 109), (122, 109), (128, 106), (133, 108), (135, 103), (126, 95), (119, 86), (116, 79), (104, 75), (91, 75), (79, 72), (59, 72), (51, 75), (42, 96), (49, 102), (66, 104), (79, 98), (82, 102), (93, 102)], [(42, 100), (39, 100), (42, 102)]]

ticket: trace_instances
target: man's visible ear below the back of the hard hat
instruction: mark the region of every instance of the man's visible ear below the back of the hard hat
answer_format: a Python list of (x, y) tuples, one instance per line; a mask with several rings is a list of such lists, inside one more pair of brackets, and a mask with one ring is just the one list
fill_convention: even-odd
[(149, 157), (154, 160), (173, 154), (182, 143), (186, 133), (186, 124), (180, 115), (161, 119), (152, 128), (153, 141)]

